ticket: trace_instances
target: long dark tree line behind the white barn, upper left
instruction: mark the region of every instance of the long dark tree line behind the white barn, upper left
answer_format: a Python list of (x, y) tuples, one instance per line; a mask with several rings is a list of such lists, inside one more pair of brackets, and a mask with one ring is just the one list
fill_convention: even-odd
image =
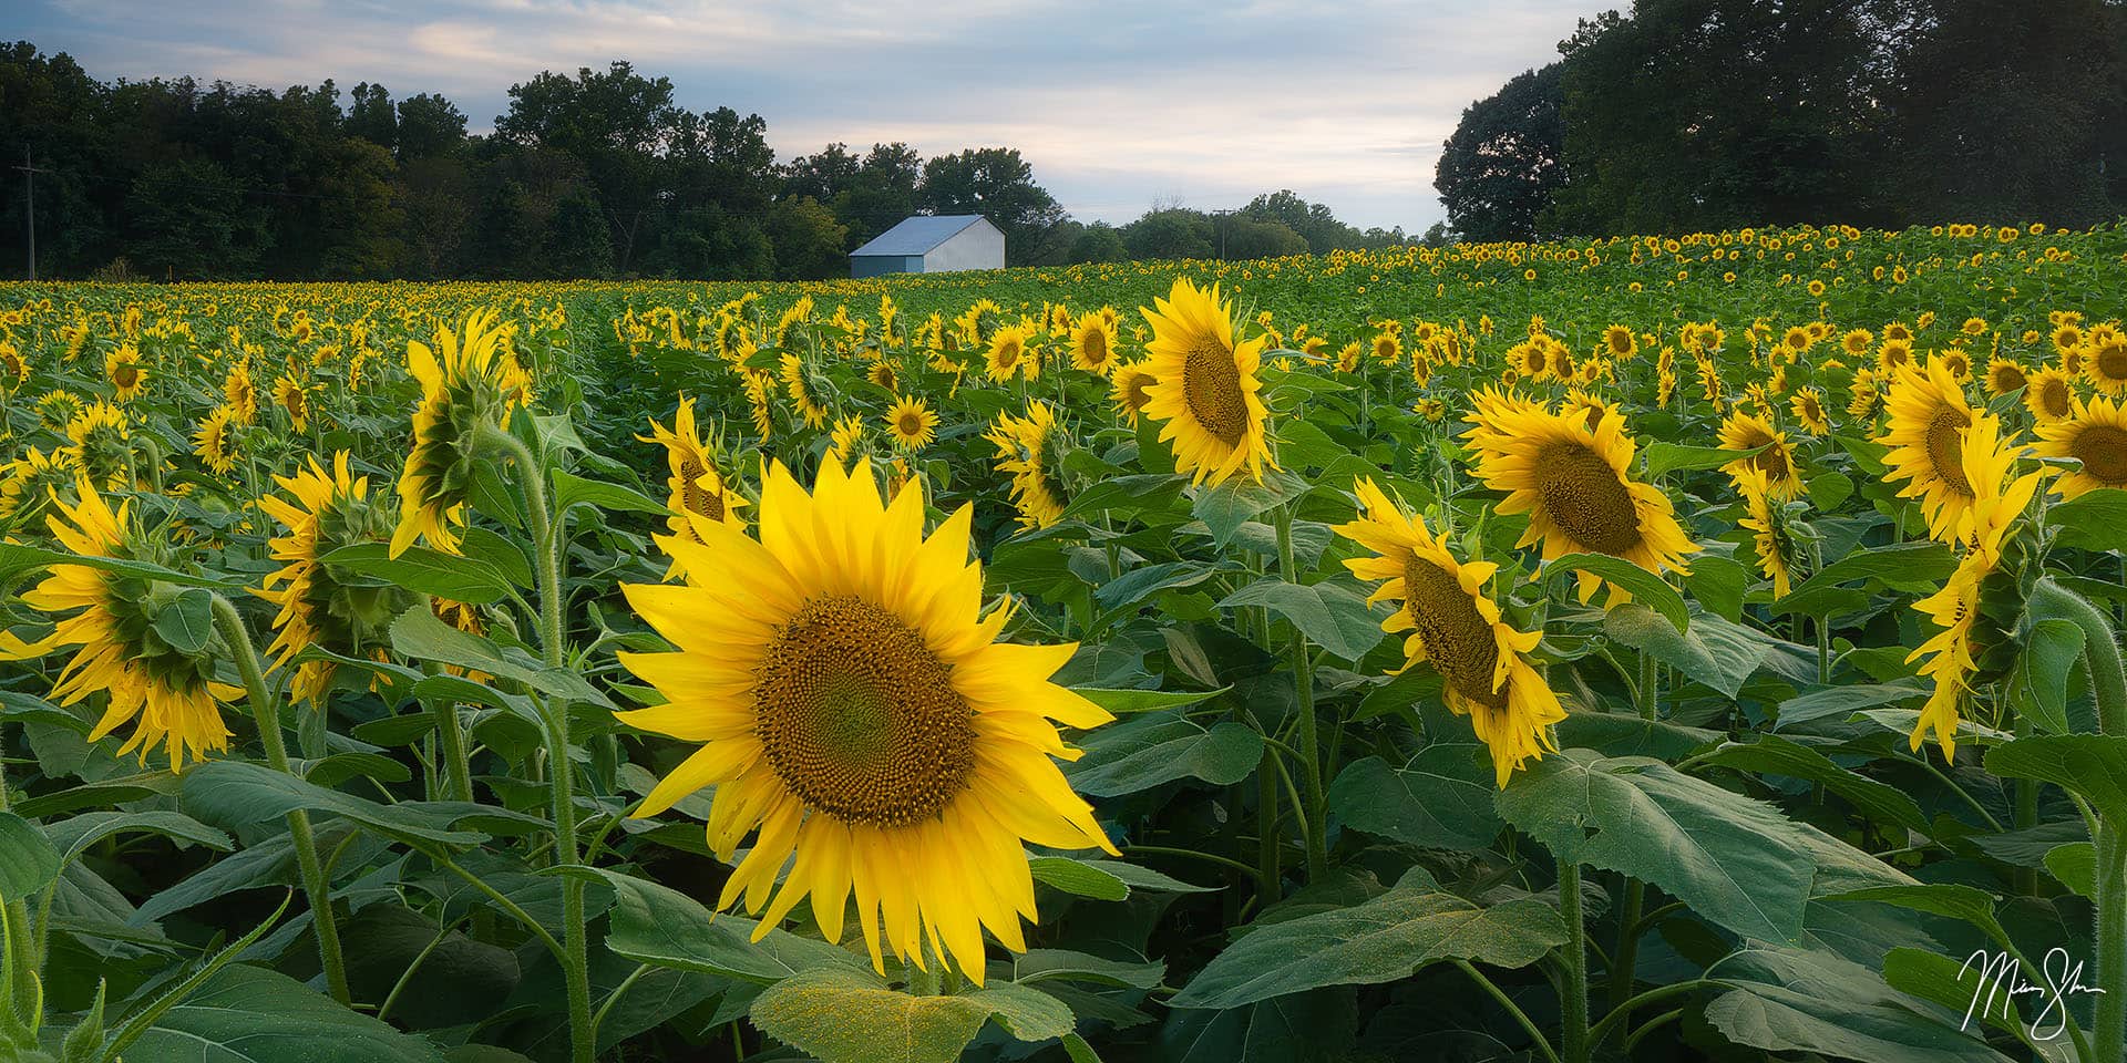
[(1081, 223), (1008, 147), (925, 159), (827, 145), (778, 162), (759, 115), (679, 106), (670, 79), (627, 62), (540, 72), (510, 87), (493, 132), (470, 134), (436, 94), (104, 83), (23, 40), (0, 47), (0, 276), (28, 272), (30, 193), (45, 279), (825, 279), (917, 213), (987, 215), (1012, 266), (1404, 238), (1291, 191)]

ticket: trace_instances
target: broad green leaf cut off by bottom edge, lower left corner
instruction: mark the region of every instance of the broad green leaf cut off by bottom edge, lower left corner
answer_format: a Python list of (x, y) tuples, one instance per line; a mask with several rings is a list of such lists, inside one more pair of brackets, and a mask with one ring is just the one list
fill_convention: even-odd
[(442, 1050), (311, 993), (285, 974), (238, 963), (170, 1008), (125, 1059), (442, 1063)]

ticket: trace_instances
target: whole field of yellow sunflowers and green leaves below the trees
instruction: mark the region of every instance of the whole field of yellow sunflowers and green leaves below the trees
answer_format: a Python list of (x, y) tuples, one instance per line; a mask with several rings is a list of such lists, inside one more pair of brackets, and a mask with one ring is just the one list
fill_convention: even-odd
[(0, 287), (0, 1061), (2127, 1059), (2127, 230)]

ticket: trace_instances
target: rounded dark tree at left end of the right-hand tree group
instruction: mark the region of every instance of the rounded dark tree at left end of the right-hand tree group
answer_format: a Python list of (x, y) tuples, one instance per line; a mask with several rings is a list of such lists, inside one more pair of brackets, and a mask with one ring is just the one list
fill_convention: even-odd
[(1559, 64), (1527, 70), (1463, 108), (1434, 168), (1455, 232), (1478, 242), (1536, 240), (1538, 215), (1565, 181), (1559, 72)]

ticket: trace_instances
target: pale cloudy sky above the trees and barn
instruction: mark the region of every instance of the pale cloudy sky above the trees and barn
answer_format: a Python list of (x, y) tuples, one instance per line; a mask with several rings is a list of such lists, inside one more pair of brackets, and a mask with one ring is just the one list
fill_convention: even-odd
[(0, 0), (98, 79), (376, 81), (485, 130), (508, 85), (625, 57), (693, 111), (925, 155), (1008, 145), (1078, 219), (1289, 187), (1357, 225), (1442, 217), (1461, 108), (1551, 62), (1606, 0)]

